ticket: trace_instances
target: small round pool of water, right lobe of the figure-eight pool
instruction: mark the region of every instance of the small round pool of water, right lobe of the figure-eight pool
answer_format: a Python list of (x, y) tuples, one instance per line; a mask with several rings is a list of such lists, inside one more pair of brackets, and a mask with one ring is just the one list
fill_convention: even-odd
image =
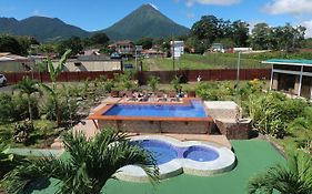
[(215, 150), (204, 146), (190, 146), (184, 153), (184, 159), (190, 159), (198, 162), (214, 161), (219, 157)]

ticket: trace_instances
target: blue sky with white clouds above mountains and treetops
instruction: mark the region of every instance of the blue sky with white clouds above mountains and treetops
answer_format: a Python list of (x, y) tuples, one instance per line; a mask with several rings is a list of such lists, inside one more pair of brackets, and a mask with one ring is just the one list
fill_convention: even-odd
[(18, 20), (42, 16), (59, 18), (88, 31), (102, 30), (142, 4), (153, 4), (179, 24), (191, 28), (202, 16), (242, 20), (250, 25), (306, 27), (312, 37), (312, 0), (0, 0), (0, 17)]

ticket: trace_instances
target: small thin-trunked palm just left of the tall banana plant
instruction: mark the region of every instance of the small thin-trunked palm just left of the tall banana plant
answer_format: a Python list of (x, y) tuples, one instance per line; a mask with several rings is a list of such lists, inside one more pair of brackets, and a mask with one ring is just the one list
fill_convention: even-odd
[(24, 76), (18, 84), (14, 86), (14, 89), (18, 89), (21, 94), (27, 95), (28, 100), (28, 113), (29, 113), (29, 120), (31, 125), (33, 125), (32, 122), (32, 109), (31, 109), (31, 94), (40, 92), (40, 90), (37, 88), (37, 82), (29, 79), (28, 76)]

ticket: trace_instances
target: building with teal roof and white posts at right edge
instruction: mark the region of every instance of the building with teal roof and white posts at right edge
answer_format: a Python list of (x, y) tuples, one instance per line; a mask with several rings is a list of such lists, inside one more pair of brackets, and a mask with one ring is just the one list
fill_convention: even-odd
[(312, 60), (266, 60), (272, 64), (270, 90), (312, 99)]

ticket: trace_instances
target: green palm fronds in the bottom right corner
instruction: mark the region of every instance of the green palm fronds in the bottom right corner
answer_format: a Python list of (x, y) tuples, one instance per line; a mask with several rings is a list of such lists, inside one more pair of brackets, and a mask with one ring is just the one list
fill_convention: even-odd
[(249, 182), (249, 193), (279, 191), (282, 194), (312, 194), (312, 156), (302, 151), (290, 152), (286, 165), (276, 164)]

